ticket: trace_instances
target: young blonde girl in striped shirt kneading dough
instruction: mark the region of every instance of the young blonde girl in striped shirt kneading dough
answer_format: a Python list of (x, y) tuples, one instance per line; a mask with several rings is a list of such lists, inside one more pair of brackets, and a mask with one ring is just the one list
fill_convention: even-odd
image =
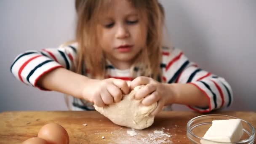
[(74, 96), (73, 106), (85, 110), (119, 102), (137, 85), (146, 86), (135, 99), (158, 102), (152, 115), (171, 104), (210, 112), (232, 103), (224, 78), (162, 45), (164, 11), (157, 0), (76, 0), (75, 6), (76, 42), (21, 53), (11, 65), (18, 80)]

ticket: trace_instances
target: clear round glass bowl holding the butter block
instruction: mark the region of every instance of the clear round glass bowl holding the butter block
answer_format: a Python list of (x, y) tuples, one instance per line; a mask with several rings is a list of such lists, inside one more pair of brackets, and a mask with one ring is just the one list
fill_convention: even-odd
[(187, 137), (193, 144), (201, 144), (200, 140), (207, 141), (208, 144), (253, 144), (255, 139), (255, 129), (253, 126), (241, 119), (243, 125), (243, 136), (237, 142), (217, 142), (203, 139), (204, 134), (212, 125), (213, 120), (238, 119), (229, 115), (201, 115), (194, 117), (187, 123)]

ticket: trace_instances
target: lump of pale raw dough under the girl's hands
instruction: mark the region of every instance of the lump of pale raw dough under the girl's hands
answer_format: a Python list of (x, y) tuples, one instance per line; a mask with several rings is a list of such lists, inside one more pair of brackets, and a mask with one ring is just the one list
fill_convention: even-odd
[(154, 123), (155, 116), (151, 116), (149, 114), (157, 107), (157, 102), (146, 107), (141, 104), (142, 99), (134, 99), (136, 91), (142, 87), (144, 87), (144, 85), (135, 87), (130, 94), (124, 95), (123, 100), (118, 103), (105, 107), (93, 106), (98, 112), (109, 118), (109, 120), (117, 125), (142, 130)]

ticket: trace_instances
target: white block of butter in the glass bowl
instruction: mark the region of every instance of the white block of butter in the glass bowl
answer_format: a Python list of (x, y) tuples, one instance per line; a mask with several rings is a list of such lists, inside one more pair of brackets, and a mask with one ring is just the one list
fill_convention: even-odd
[[(211, 127), (203, 136), (204, 139), (218, 142), (236, 142), (243, 135), (243, 125), (240, 119), (213, 120)], [(219, 144), (218, 142), (200, 141), (201, 144)]]

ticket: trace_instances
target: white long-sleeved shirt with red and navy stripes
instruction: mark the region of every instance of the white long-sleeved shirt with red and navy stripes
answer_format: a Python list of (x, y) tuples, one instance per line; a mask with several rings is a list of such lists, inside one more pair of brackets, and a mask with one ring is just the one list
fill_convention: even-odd
[[(35, 85), (37, 80), (53, 69), (64, 67), (74, 71), (76, 57), (77, 43), (66, 47), (45, 48), (41, 51), (25, 51), (14, 59), (11, 73), (22, 83), (37, 87)], [(208, 99), (208, 107), (188, 106), (189, 108), (197, 112), (210, 112), (213, 109), (229, 107), (232, 104), (233, 93), (227, 81), (200, 69), (197, 64), (189, 61), (178, 48), (162, 48), (160, 68), (163, 72), (163, 83), (189, 83), (195, 85), (205, 94)], [(106, 69), (106, 78), (133, 80), (129, 69), (116, 69), (109, 61), (107, 61)], [(88, 69), (83, 69), (83, 71), (84, 75), (90, 77)], [(72, 105), (85, 110), (93, 109), (91, 103), (76, 98), (73, 98)]]

